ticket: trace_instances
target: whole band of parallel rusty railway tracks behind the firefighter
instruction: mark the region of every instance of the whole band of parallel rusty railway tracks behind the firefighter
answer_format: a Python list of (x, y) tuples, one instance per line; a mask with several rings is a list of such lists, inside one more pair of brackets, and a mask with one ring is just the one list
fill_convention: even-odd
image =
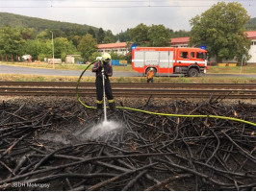
[[(112, 83), (115, 97), (180, 97), (256, 99), (256, 84), (130, 84)], [(76, 83), (1, 82), (0, 95), (75, 96)], [(79, 96), (95, 96), (94, 83), (80, 83)]]

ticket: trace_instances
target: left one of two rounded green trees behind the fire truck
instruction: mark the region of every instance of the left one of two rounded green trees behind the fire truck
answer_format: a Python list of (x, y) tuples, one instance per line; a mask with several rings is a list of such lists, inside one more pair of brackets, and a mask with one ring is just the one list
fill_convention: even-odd
[(146, 46), (149, 41), (147, 37), (148, 30), (149, 27), (141, 23), (136, 28), (130, 30), (131, 40), (138, 45)]

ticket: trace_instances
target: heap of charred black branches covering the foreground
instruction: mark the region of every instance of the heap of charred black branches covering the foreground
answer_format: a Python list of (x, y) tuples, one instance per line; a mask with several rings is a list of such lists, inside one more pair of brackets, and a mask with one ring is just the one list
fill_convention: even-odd
[[(242, 103), (134, 106), (256, 123), (256, 106)], [(96, 114), (76, 101), (0, 104), (0, 190), (256, 189), (253, 125), (116, 109), (104, 130)]]

